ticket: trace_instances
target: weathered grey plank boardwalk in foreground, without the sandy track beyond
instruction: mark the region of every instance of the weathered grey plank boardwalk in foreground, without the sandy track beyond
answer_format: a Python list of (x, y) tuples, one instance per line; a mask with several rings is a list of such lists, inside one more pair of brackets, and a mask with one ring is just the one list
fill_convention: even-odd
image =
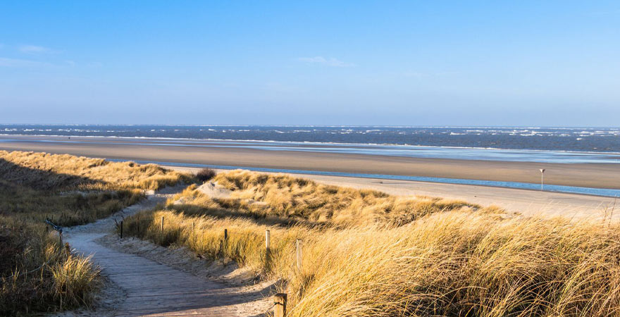
[(115, 316), (242, 316), (237, 304), (261, 297), (239, 294), (236, 288), (94, 242), (102, 236), (80, 233), (71, 235), (68, 242), (77, 251), (92, 254), (102, 273), (127, 292)]

